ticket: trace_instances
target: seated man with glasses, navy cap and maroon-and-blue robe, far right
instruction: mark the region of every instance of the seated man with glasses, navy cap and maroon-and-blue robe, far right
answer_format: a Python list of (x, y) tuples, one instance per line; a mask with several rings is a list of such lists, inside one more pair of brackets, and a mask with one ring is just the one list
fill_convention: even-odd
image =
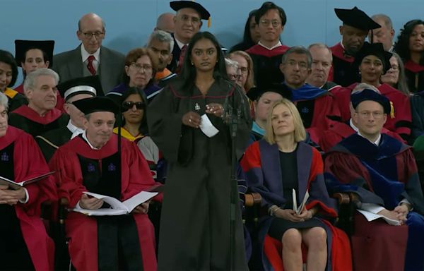
[(358, 133), (326, 154), (326, 183), (331, 193), (353, 193), (358, 209), (370, 216), (384, 216), (367, 222), (355, 214), (355, 268), (423, 270), (424, 199), (411, 147), (381, 133), (390, 112), (387, 97), (363, 90), (351, 102)]

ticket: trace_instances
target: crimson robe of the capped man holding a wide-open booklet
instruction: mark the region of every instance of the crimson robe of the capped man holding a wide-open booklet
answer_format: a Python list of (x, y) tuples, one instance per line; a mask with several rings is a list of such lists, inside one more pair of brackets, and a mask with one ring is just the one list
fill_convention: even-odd
[[(116, 191), (117, 180), (109, 180), (108, 187), (102, 189), (109, 191), (110, 187), (115, 186), (113, 193), (118, 195), (118, 199), (123, 201), (131, 196), (146, 190), (153, 186), (155, 182), (152, 179), (151, 172), (143, 155), (134, 143), (122, 139), (122, 172), (120, 191)], [(51, 169), (56, 170), (56, 181), (58, 194), (60, 198), (66, 198), (69, 201), (69, 207), (75, 207), (81, 199), (84, 191), (88, 191), (84, 183), (88, 180), (83, 179), (87, 172), (95, 171), (94, 161), (99, 161), (100, 171), (107, 174), (101, 174), (100, 178), (107, 179), (108, 175), (119, 174), (116, 172), (117, 164), (110, 157), (117, 155), (117, 135), (112, 138), (100, 150), (93, 150), (81, 136), (73, 138), (68, 143), (59, 147), (49, 162)], [(87, 162), (88, 161), (88, 162)], [(86, 167), (83, 167), (86, 165)], [(84, 174), (83, 174), (84, 172)], [(87, 175), (86, 175), (87, 176)], [(118, 175), (119, 176), (119, 175)], [(119, 178), (119, 177), (117, 177)], [(119, 183), (117, 183), (119, 185)], [(96, 191), (99, 193), (98, 191)], [(119, 197), (120, 195), (120, 197)], [(134, 259), (142, 259), (143, 270), (156, 270), (155, 258), (155, 237), (153, 225), (146, 214), (132, 215), (136, 224), (136, 234), (133, 239), (139, 241), (139, 251), (141, 255), (136, 255), (134, 250)], [(114, 219), (128, 219), (128, 216), (114, 217)], [(98, 217), (88, 217), (79, 212), (69, 212), (66, 217), (65, 227), (66, 236), (69, 237), (69, 255), (72, 264), (76, 270), (98, 270), (98, 246), (109, 246), (105, 241), (107, 239), (98, 239)], [(99, 245), (98, 245), (99, 243)], [(138, 248), (138, 246), (137, 246)], [(117, 249), (116, 249), (117, 251)]]

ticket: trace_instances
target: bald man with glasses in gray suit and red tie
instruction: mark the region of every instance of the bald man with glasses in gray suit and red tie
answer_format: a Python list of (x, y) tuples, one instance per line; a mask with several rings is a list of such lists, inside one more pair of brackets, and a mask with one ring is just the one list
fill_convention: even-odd
[(102, 46), (105, 34), (105, 23), (100, 16), (88, 13), (81, 17), (76, 31), (81, 44), (53, 57), (52, 69), (59, 74), (61, 82), (97, 75), (105, 93), (119, 84), (124, 72), (124, 55)]

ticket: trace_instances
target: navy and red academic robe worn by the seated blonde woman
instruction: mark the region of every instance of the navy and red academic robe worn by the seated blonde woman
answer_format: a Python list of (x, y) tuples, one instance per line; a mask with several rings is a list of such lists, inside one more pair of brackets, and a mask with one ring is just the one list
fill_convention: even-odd
[[(276, 144), (269, 145), (265, 140), (259, 140), (247, 147), (245, 155), (240, 164), (247, 179), (247, 185), (250, 190), (261, 194), (261, 205), (268, 209), (272, 205), (284, 208), (288, 202), (288, 197), (292, 195), (283, 195), (283, 182), (281, 180), (281, 164), (278, 154), (278, 146)], [(297, 164), (298, 164), (298, 196), (304, 198), (306, 191), (309, 191), (310, 198), (307, 200), (306, 208), (319, 207), (317, 219), (322, 222), (322, 226), (326, 229), (327, 234), (327, 250), (328, 259), (326, 270), (351, 269), (350, 249), (348, 246), (348, 238), (346, 235), (341, 239), (333, 239), (333, 231), (343, 235), (340, 230), (331, 227), (331, 224), (323, 222), (324, 217), (335, 218), (336, 202), (329, 198), (322, 175), (323, 164), (320, 153), (306, 143), (298, 143)], [(265, 270), (280, 270), (281, 253), (275, 253), (276, 246), (273, 245), (271, 237), (267, 235), (269, 227), (274, 217), (266, 215), (259, 222), (259, 243), (261, 243), (261, 261)], [(281, 243), (281, 241), (280, 241)], [(274, 248), (273, 248), (274, 247)], [(341, 249), (345, 248), (345, 249)], [(341, 253), (341, 251), (343, 251)], [(340, 254), (336, 254), (340, 253)], [(334, 266), (336, 263), (342, 266)], [(278, 260), (279, 259), (279, 260)], [(343, 259), (343, 260), (341, 260)], [(282, 265), (281, 265), (282, 266)]]

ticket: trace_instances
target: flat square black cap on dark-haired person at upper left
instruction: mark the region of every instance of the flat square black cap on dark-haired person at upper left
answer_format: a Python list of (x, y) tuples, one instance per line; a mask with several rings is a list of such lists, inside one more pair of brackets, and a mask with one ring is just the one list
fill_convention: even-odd
[(40, 49), (47, 54), (45, 61), (49, 61), (49, 66), (53, 64), (54, 40), (15, 40), (15, 59), (16, 64), (25, 60), (25, 54), (30, 49)]

